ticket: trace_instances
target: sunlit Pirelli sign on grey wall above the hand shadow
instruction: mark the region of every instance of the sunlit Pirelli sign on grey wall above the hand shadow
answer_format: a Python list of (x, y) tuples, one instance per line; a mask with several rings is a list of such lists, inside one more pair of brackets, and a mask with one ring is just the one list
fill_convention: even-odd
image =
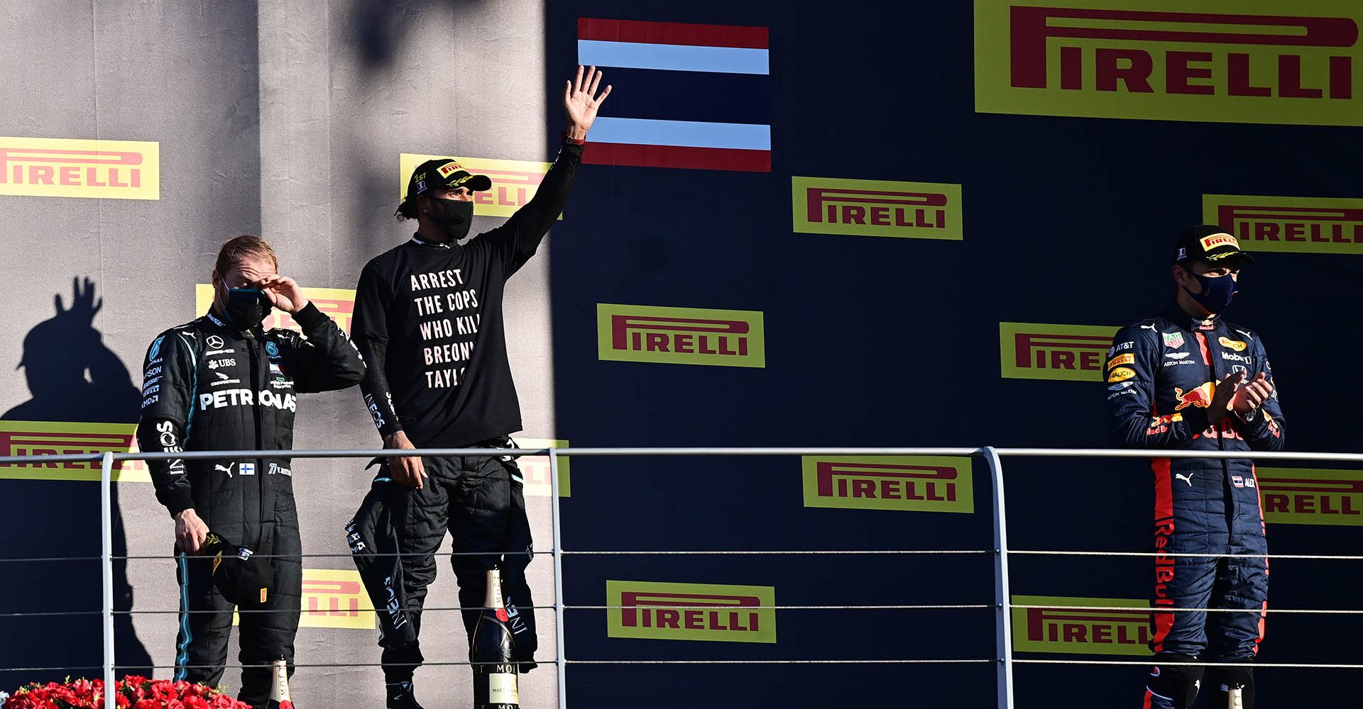
[(0, 137), (0, 195), (161, 199), (161, 144)]

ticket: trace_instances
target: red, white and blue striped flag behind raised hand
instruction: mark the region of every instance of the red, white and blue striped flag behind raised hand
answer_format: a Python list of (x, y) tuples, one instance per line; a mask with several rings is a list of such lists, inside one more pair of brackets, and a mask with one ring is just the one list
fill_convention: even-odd
[(582, 162), (771, 171), (766, 27), (579, 18), (578, 63), (628, 87)]

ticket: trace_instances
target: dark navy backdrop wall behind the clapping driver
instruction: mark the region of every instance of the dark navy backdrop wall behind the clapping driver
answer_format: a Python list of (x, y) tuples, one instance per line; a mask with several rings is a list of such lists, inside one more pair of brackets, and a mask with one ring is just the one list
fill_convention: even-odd
[[(770, 106), (759, 113), (770, 116), (773, 169), (582, 169), (552, 261), (559, 437), (574, 445), (1103, 446), (1104, 388), (1000, 378), (1000, 321), (1119, 325), (1156, 313), (1172, 297), (1169, 246), (1201, 220), (1204, 193), (1363, 192), (1352, 128), (975, 113), (970, 3), (551, 0), (551, 95), (577, 61), (581, 16), (770, 27)], [(639, 91), (631, 82), (654, 80), (649, 73), (607, 69), (616, 95), (602, 114), (653, 108), (722, 121), (752, 102), (677, 80), (665, 106), (627, 103)], [(556, 139), (557, 113), (548, 128)], [(965, 240), (796, 234), (792, 176), (961, 184)], [(1351, 352), (1363, 346), (1349, 314), (1360, 271), (1356, 256), (1264, 253), (1240, 280), (1229, 317), (1268, 343), (1292, 449), (1359, 449), (1345, 412)], [(761, 310), (767, 365), (598, 361), (601, 302)], [(1005, 468), (1013, 547), (1149, 546), (1152, 480), (1141, 463)], [(980, 464), (970, 516), (804, 508), (797, 459), (583, 459), (572, 487), (570, 550), (990, 544)], [(1280, 554), (1351, 553), (1363, 528), (1270, 524), (1269, 536)], [(567, 563), (570, 604), (605, 603), (608, 578), (773, 585), (778, 604), (992, 600), (987, 557)], [(1270, 607), (1353, 607), (1360, 580), (1347, 562), (1276, 561)], [(1145, 597), (1148, 585), (1138, 558), (1013, 561), (1020, 595)], [(994, 652), (991, 611), (778, 611), (774, 645), (608, 638), (604, 612), (570, 611), (568, 657)], [(1363, 650), (1338, 640), (1363, 631), (1355, 618), (1270, 614), (1259, 659), (1360, 661)], [(1261, 670), (1261, 705), (1358, 699), (1349, 676)], [(1024, 708), (1134, 706), (1144, 671), (1020, 665), (1015, 679)], [(995, 694), (992, 667), (950, 665), (575, 665), (568, 690), (593, 706), (677, 708), (992, 706)]]

